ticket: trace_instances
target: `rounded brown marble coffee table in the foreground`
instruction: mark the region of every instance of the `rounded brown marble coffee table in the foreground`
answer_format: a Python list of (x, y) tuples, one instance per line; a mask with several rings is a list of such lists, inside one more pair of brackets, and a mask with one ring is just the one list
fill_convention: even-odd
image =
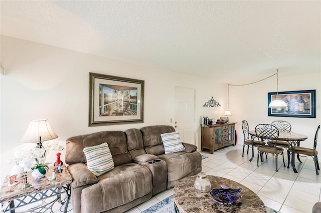
[(232, 204), (223, 205), (214, 201), (210, 193), (199, 192), (194, 188), (197, 175), (180, 180), (174, 187), (174, 205), (176, 212), (266, 212), (259, 196), (246, 186), (219, 176), (208, 175), (212, 188), (226, 185), (230, 188), (242, 188), (242, 198)]

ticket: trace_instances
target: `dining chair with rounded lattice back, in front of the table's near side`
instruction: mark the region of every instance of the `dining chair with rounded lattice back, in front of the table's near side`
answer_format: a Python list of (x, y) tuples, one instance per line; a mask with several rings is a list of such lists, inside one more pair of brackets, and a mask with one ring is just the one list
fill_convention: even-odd
[(272, 124), (258, 124), (255, 127), (255, 133), (257, 137), (264, 142), (264, 140), (267, 140), (270, 142), (269, 144), (261, 144), (258, 143), (257, 146), (257, 166), (259, 166), (259, 156), (261, 157), (261, 162), (263, 162), (263, 153), (271, 153), (275, 157), (275, 171), (277, 171), (277, 156), (280, 154), (282, 155), (283, 158), (283, 165), (285, 167), (285, 162), (284, 162), (284, 155), (283, 155), (283, 148), (276, 146), (276, 141), (279, 136), (279, 130), (277, 129), (276, 126)]

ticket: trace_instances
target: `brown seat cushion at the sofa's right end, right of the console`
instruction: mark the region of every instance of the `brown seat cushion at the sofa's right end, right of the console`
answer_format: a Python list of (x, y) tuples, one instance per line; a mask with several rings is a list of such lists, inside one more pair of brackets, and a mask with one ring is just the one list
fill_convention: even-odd
[(174, 152), (158, 155), (167, 164), (168, 182), (178, 180), (202, 165), (202, 155), (197, 152)]

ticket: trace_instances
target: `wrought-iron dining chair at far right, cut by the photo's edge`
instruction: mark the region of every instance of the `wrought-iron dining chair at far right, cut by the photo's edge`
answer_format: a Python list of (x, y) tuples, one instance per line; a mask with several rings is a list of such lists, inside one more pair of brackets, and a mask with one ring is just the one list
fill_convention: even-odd
[[(295, 153), (296, 154), (299, 154), (299, 156), (301, 156), (301, 157), (311, 156), (313, 158), (316, 174), (319, 174), (318, 170), (320, 170), (319, 162), (317, 160), (317, 150), (316, 150), (317, 135), (318, 135), (319, 129), (320, 129), (320, 125), (317, 126), (316, 131), (315, 131), (313, 148), (305, 148), (305, 147), (301, 147), (301, 146), (295, 146)], [(291, 151), (292, 150), (289, 149), (289, 152), (291, 152)], [(289, 159), (289, 157), (288, 157), (288, 159)], [(288, 160), (287, 167), (289, 167), (289, 164), (290, 164), (290, 160)]]

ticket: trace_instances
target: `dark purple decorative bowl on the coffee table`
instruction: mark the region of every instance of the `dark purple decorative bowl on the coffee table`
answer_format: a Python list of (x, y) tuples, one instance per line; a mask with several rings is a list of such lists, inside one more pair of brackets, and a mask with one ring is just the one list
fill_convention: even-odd
[(227, 205), (241, 199), (241, 190), (242, 188), (233, 189), (226, 185), (221, 185), (221, 188), (212, 188), (210, 196), (214, 201)]

